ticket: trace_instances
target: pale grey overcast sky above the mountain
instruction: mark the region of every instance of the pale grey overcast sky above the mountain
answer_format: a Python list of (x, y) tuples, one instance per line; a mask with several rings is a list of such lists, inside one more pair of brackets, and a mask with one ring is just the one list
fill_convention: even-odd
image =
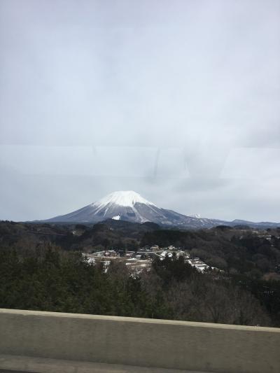
[(280, 222), (279, 0), (1, 0), (0, 219), (115, 190)]

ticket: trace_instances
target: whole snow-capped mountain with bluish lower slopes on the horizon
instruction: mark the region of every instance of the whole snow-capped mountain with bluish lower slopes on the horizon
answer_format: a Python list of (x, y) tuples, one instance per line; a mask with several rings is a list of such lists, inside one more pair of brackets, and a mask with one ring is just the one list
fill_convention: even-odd
[(48, 223), (98, 223), (106, 219), (125, 220), (132, 223), (149, 221), (160, 225), (181, 227), (182, 229), (209, 228), (216, 225), (233, 226), (240, 223), (251, 227), (277, 225), (277, 223), (252, 223), (244, 220), (227, 222), (200, 218), (200, 215), (185, 216), (172, 210), (162, 209), (132, 190), (113, 192), (82, 209), (44, 221)]

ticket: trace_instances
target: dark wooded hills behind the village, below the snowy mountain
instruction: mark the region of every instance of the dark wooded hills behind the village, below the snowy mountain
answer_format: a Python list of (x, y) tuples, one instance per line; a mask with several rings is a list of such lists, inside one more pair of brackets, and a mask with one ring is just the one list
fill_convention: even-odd
[(219, 226), (197, 231), (164, 230), (154, 223), (111, 219), (93, 226), (0, 222), (1, 246), (26, 250), (43, 242), (56, 244), (66, 251), (85, 253), (172, 245), (230, 273), (255, 278), (280, 276), (280, 228), (253, 230)]

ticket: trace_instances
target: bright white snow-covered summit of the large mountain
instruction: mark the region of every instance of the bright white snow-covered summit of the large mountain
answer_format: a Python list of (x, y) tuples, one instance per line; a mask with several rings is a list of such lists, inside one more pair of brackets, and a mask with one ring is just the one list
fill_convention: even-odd
[(116, 204), (118, 206), (133, 207), (134, 204), (146, 204), (148, 206), (155, 206), (152, 202), (149, 202), (147, 199), (141, 197), (139, 193), (134, 192), (133, 190), (120, 190), (118, 192), (110, 193), (106, 195), (99, 201), (94, 202), (92, 206), (103, 207)]

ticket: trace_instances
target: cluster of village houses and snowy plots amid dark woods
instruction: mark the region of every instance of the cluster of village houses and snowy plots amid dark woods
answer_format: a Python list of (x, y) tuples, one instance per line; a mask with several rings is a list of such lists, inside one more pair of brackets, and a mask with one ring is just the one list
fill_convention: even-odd
[(97, 251), (95, 253), (83, 253), (83, 256), (86, 258), (87, 262), (92, 263), (92, 265), (97, 263), (104, 265), (105, 272), (113, 261), (123, 262), (131, 272), (140, 273), (144, 269), (151, 269), (154, 258), (164, 260), (166, 257), (174, 258), (174, 256), (176, 258), (183, 256), (185, 262), (195, 267), (198, 272), (203, 273), (207, 269), (220, 270), (216, 267), (210, 267), (200, 258), (192, 257), (188, 251), (183, 250), (183, 248), (176, 248), (175, 246), (168, 246), (165, 248), (160, 248), (158, 245), (144, 246), (143, 248), (139, 248), (138, 251), (117, 251), (111, 249)]

